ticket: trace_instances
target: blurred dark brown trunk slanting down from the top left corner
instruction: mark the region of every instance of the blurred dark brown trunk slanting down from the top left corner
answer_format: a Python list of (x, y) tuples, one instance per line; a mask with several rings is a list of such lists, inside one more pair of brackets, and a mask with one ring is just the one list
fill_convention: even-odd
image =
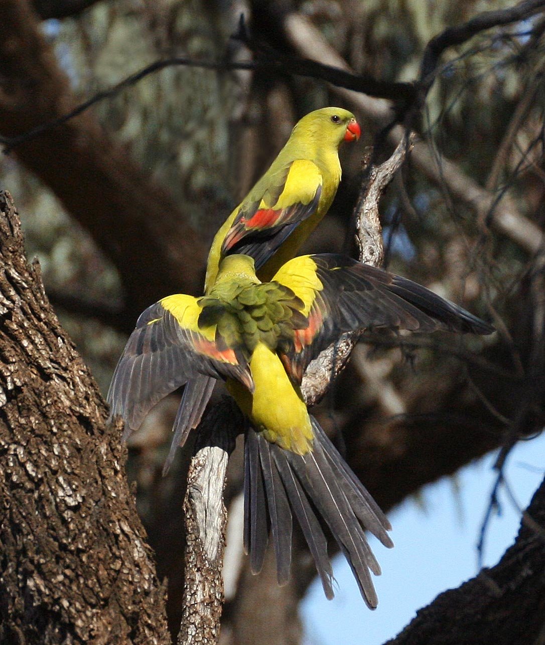
[[(0, 3), (0, 133), (21, 135), (77, 101), (28, 0)], [(165, 191), (82, 114), (17, 145), (17, 159), (59, 197), (116, 265), (130, 299), (127, 330), (165, 293), (200, 288), (205, 246)], [(54, 161), (54, 163), (52, 163)]]

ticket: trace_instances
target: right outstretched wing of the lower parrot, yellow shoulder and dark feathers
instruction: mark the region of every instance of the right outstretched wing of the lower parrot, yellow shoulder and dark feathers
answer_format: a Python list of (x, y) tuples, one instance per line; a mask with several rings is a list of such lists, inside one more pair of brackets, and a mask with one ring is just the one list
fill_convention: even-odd
[(305, 303), (302, 313), (308, 325), (294, 331), (293, 348), (282, 357), (287, 372), (298, 382), (309, 362), (345, 332), (373, 327), (494, 331), (426, 287), (343, 255), (296, 257), (282, 266), (274, 281), (289, 286)]

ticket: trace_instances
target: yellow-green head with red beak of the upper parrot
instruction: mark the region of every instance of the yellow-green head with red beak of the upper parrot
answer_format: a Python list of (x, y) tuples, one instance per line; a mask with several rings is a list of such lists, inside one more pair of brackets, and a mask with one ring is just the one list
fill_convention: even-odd
[(362, 130), (356, 117), (343, 108), (321, 108), (305, 115), (293, 128), (293, 137), (307, 137), (313, 133), (322, 144), (338, 148), (342, 141), (355, 141)]

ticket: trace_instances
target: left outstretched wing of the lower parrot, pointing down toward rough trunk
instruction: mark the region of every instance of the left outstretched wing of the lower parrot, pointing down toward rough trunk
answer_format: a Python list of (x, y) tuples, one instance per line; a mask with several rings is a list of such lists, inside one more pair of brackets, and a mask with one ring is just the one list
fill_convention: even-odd
[(196, 298), (178, 294), (140, 315), (107, 397), (112, 415), (125, 421), (124, 439), (158, 401), (200, 374), (232, 377), (252, 390), (247, 358), (222, 342), (215, 325), (199, 328), (201, 311)]

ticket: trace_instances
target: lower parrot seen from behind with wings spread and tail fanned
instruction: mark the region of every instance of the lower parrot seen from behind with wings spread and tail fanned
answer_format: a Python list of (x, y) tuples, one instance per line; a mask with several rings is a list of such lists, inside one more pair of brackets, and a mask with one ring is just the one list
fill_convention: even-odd
[[(300, 391), (309, 362), (352, 330), (386, 327), (491, 333), (493, 328), (423, 286), (342, 255), (305, 255), (268, 283), (247, 255), (227, 255), (207, 295), (171, 295), (141, 314), (112, 379), (108, 402), (127, 431), (198, 374), (223, 379), (249, 420), (244, 544), (257, 573), (269, 539), (278, 582), (291, 563), (293, 514), (333, 597), (321, 516), (371, 608), (369, 571), (380, 568), (365, 531), (392, 546), (386, 517), (309, 415)], [(177, 434), (169, 460), (185, 437)]]

